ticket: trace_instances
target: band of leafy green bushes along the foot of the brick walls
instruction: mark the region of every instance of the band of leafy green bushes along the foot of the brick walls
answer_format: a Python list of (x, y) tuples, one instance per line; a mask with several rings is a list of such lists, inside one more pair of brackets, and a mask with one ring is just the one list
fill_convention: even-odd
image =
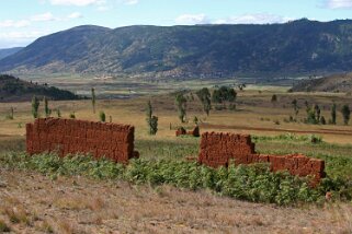
[(211, 189), (241, 200), (285, 206), (319, 201), (326, 191), (334, 191), (343, 199), (349, 199), (351, 195), (343, 190), (347, 186), (344, 180), (327, 178), (317, 189), (311, 189), (306, 178), (292, 176), (287, 172), (271, 173), (266, 164), (214, 169), (195, 162), (138, 159), (124, 166), (105, 159), (93, 160), (84, 155), (58, 157), (55, 154), (8, 154), (0, 156), (0, 163), (5, 167), (35, 169), (52, 178), (82, 175), (152, 186), (169, 184), (193, 190)]

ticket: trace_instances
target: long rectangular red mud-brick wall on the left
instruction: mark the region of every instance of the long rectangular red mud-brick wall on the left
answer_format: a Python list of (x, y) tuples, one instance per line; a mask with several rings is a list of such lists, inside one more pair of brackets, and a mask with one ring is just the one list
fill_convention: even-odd
[(57, 152), (92, 154), (127, 163), (138, 156), (134, 151), (134, 127), (76, 119), (39, 118), (26, 125), (29, 154)]

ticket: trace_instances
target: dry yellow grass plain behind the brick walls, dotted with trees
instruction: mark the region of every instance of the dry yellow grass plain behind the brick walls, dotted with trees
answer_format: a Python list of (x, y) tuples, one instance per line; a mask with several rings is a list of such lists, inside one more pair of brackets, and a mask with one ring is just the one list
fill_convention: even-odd
[[(270, 102), (271, 96), (274, 93), (279, 96), (279, 102), (275, 105)], [(99, 120), (99, 112), (104, 110), (107, 121), (110, 116), (112, 116), (114, 122), (134, 125), (136, 126), (137, 139), (143, 139), (149, 137), (147, 134), (147, 126), (145, 120), (145, 106), (149, 98), (152, 101), (155, 115), (159, 117), (159, 131), (156, 138), (172, 139), (174, 137), (174, 130), (170, 130), (170, 125), (172, 129), (174, 129), (181, 124), (178, 119), (173, 96), (169, 94), (144, 96), (133, 100), (98, 101), (95, 114), (92, 113), (90, 101), (50, 102), (49, 105), (52, 109), (59, 108), (63, 117), (66, 118), (70, 113), (75, 112), (77, 118)], [(329, 108), (332, 104), (332, 101), (340, 105), (352, 102), (351, 96), (343, 94), (292, 94), (283, 91), (272, 90), (263, 91), (261, 93), (254, 90), (245, 91), (239, 92), (236, 112), (218, 112), (213, 109), (209, 117), (202, 113), (202, 107), (196, 100), (189, 102), (189, 124), (185, 126), (192, 127), (192, 120), (194, 116), (197, 116), (205, 124), (223, 126), (222, 128), (208, 127), (201, 130), (235, 131), (264, 136), (280, 134), (285, 131), (298, 131), (298, 133), (306, 132), (321, 134), (328, 142), (351, 143), (352, 126), (342, 125), (342, 117), (340, 113), (338, 113), (338, 126), (284, 122), (284, 118), (288, 118), (289, 115), (294, 115), (291, 105), (291, 102), (294, 98), (298, 100), (299, 106), (302, 107), (297, 117), (298, 119), (304, 119), (306, 117), (304, 106), (305, 101), (308, 101), (310, 105), (316, 103), (319, 104), (322, 109), (321, 115), (325, 116), (327, 120), (330, 117)], [(15, 107), (14, 120), (4, 118), (11, 106)], [(43, 109), (41, 109), (41, 113), (43, 116)], [(0, 115), (3, 116), (0, 119), (0, 132), (2, 136), (24, 136), (25, 122), (33, 121), (30, 103), (1, 103)], [(55, 115), (56, 114), (53, 113), (53, 116)], [(280, 121), (280, 125), (274, 124), (276, 120)], [(228, 128), (226, 126), (228, 126)]]

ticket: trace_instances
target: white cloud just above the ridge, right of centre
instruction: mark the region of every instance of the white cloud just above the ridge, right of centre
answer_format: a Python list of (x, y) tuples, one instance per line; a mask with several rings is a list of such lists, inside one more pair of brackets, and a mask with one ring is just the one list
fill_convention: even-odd
[(242, 14), (238, 16), (230, 16), (226, 19), (219, 19), (214, 21), (215, 24), (272, 24), (272, 23), (285, 23), (293, 19), (285, 17), (275, 14)]

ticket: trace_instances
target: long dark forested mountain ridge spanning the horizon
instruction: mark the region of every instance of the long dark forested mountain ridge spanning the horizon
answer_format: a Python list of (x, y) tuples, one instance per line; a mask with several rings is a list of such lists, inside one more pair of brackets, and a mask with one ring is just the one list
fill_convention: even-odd
[(0, 60), (0, 71), (175, 78), (352, 71), (352, 21), (79, 26), (38, 38)]

